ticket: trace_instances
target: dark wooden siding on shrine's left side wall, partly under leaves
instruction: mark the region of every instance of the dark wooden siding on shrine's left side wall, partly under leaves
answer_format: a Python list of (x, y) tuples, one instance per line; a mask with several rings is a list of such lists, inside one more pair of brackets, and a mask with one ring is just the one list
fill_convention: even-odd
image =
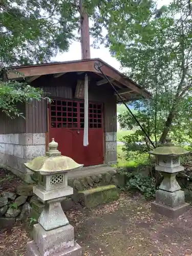
[[(20, 113), (26, 114), (25, 103), (18, 103)], [(0, 111), (0, 134), (15, 134), (26, 132), (26, 120), (23, 117), (11, 119), (4, 112)]]

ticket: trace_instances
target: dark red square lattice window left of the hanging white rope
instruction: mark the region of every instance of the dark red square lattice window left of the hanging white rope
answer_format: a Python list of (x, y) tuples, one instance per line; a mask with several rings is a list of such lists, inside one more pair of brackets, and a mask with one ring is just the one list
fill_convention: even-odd
[(77, 128), (77, 102), (54, 100), (51, 103), (51, 127)]

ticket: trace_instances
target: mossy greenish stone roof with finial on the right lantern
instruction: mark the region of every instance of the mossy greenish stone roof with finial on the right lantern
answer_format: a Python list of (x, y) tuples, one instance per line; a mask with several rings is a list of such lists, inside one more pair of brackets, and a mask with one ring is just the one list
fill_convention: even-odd
[(151, 151), (150, 154), (157, 156), (177, 157), (190, 153), (189, 151), (184, 150), (184, 148), (181, 146), (175, 146), (169, 137), (167, 137), (165, 141), (166, 143), (158, 145), (158, 147)]

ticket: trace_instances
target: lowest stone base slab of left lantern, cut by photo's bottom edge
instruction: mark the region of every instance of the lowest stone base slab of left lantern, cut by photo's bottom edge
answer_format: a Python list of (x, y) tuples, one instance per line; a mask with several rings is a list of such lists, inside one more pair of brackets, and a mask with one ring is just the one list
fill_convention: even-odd
[[(33, 241), (27, 243), (27, 256), (45, 256), (45, 255), (42, 255), (39, 253)], [(53, 254), (47, 254), (47, 255), (52, 256)], [(81, 256), (81, 255), (82, 255), (81, 247), (77, 243), (75, 244), (74, 247), (70, 247), (66, 250), (63, 250), (61, 253), (57, 253), (57, 256)]]

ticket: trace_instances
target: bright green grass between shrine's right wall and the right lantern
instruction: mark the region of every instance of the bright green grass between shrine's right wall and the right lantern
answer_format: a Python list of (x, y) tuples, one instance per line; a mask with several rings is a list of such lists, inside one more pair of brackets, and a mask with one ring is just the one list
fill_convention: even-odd
[(122, 145), (117, 145), (117, 164), (116, 167), (137, 167), (140, 164), (148, 163), (148, 154), (135, 155), (133, 160), (126, 160), (126, 154), (122, 151)]

